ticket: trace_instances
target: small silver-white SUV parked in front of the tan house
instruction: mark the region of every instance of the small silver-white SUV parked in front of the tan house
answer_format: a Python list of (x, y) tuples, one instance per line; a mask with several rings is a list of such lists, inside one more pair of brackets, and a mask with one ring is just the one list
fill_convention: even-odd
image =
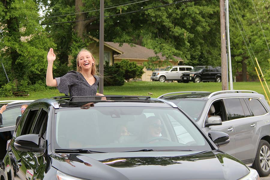
[(150, 79), (152, 81), (165, 82), (167, 80), (175, 80), (182, 82), (181, 74), (193, 69), (193, 66), (168, 66), (163, 71), (153, 72)]

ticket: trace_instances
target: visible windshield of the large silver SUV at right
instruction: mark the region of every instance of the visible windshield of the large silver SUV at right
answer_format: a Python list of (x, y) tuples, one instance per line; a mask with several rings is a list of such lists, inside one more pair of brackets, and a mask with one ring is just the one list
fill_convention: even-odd
[(198, 121), (201, 117), (205, 101), (199, 100), (170, 100), (184, 110), (193, 120)]

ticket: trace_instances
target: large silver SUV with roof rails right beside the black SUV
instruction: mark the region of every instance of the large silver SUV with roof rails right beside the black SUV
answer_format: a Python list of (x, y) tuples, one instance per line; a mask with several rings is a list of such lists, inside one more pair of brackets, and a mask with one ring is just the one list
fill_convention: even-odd
[(230, 143), (220, 150), (257, 170), (270, 174), (270, 107), (255, 91), (182, 91), (158, 98), (175, 103), (205, 131), (223, 131)]

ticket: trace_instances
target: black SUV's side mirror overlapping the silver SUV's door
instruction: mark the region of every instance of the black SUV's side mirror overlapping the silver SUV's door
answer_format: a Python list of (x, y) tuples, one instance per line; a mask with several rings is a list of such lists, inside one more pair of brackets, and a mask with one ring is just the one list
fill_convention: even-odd
[(209, 131), (208, 136), (217, 147), (224, 146), (230, 142), (229, 135), (222, 131)]

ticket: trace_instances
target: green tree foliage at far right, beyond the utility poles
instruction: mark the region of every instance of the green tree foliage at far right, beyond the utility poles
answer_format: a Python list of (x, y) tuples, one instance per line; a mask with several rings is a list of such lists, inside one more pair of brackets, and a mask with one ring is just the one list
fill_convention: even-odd
[(250, 79), (257, 79), (255, 67), (257, 66), (255, 57), (258, 59), (263, 72), (269, 69), (269, 51), (262, 33), (253, 2), (261, 21), (262, 29), (266, 40), (270, 41), (269, 17), (270, 2), (259, 0), (235, 1), (230, 3), (230, 40), (231, 40), (231, 58), (232, 70), (242, 72), (242, 80), (247, 81), (247, 75)]

